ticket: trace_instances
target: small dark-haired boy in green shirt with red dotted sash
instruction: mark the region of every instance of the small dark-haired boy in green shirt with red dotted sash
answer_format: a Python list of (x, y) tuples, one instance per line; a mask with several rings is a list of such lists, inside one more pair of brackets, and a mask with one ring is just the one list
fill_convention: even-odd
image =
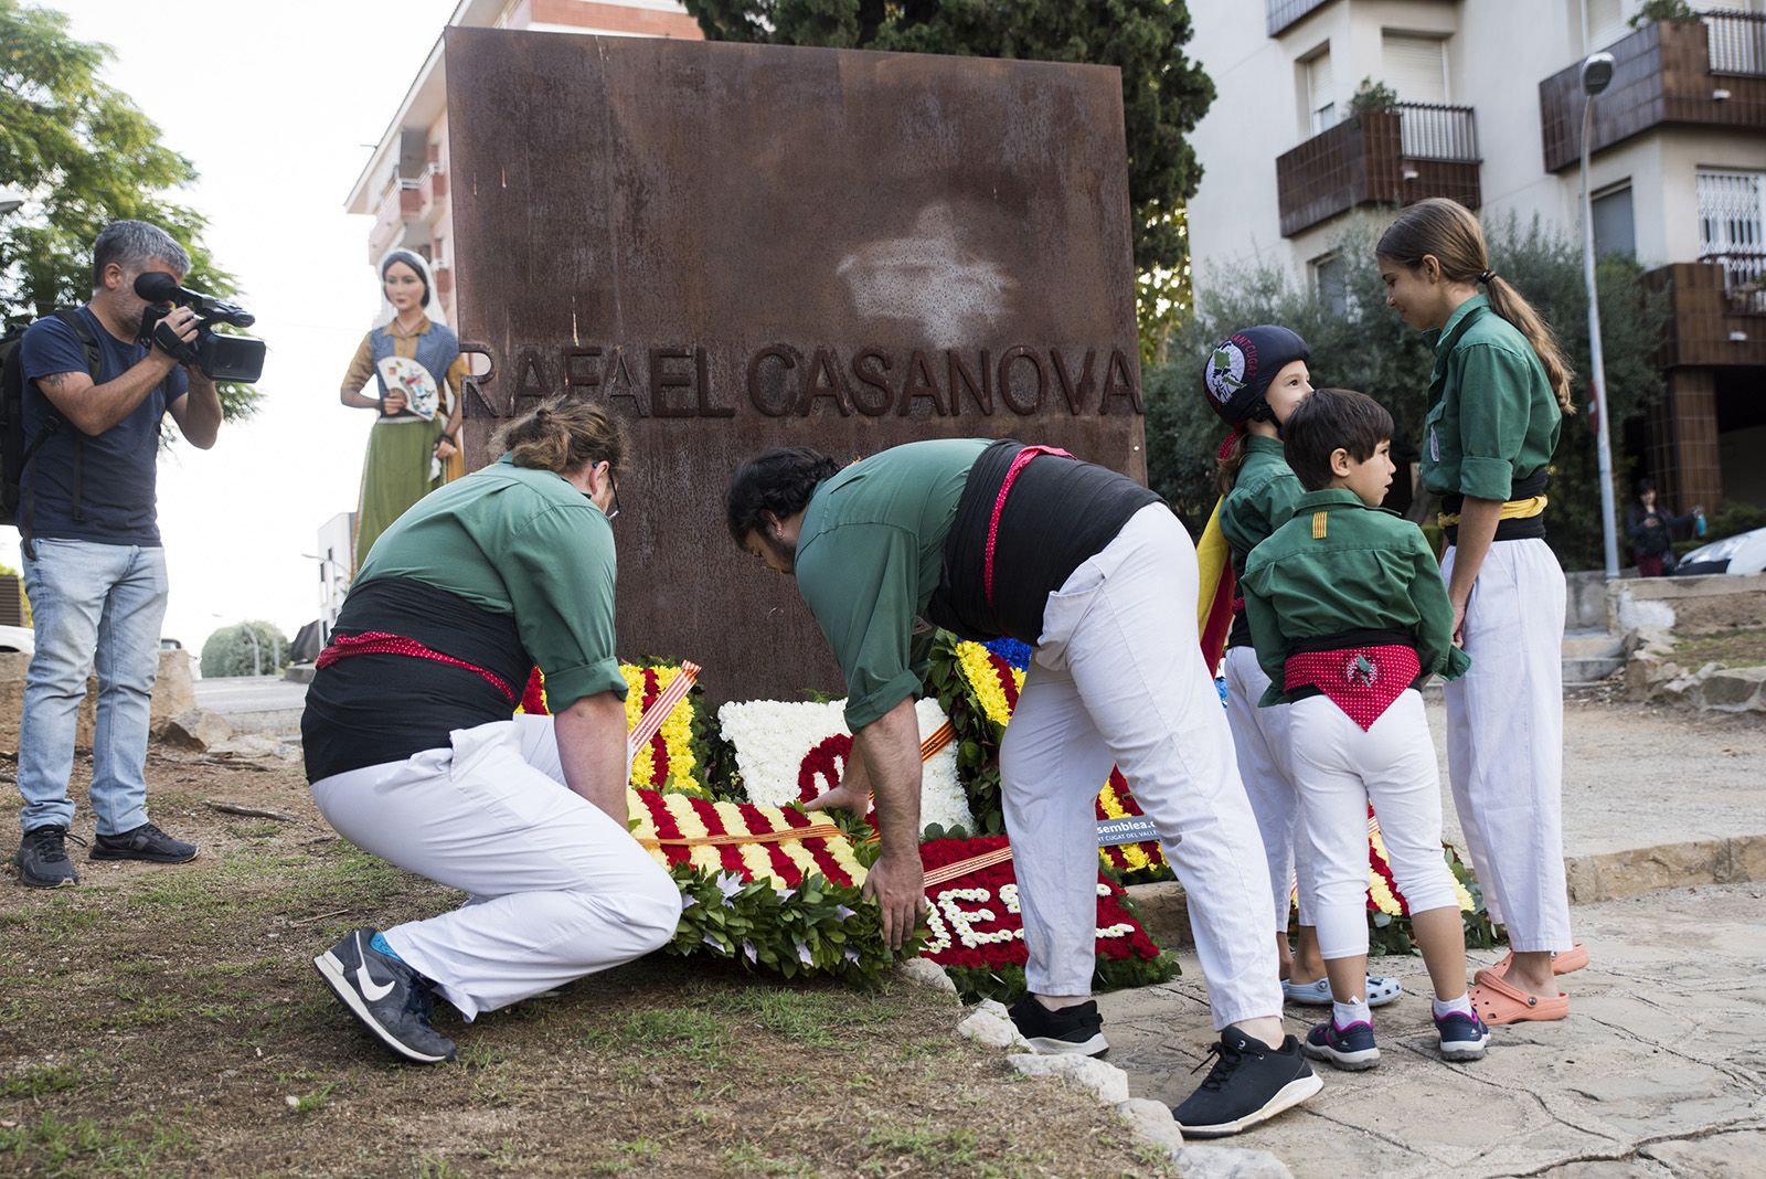
[(1379, 1063), (1367, 995), (1367, 808), (1434, 983), (1441, 1055), (1475, 1061), (1489, 1038), (1466, 995), (1453, 875), (1441, 856), (1441, 789), (1418, 687), (1457, 678), (1453, 609), (1422, 529), (1379, 503), (1392, 485), (1392, 415), (1342, 388), (1287, 418), (1287, 464), (1307, 489), (1245, 563), (1245, 614), (1270, 674), (1264, 706), (1291, 704), (1289, 748), (1312, 845), (1332, 1018), (1305, 1040), (1337, 1068)]

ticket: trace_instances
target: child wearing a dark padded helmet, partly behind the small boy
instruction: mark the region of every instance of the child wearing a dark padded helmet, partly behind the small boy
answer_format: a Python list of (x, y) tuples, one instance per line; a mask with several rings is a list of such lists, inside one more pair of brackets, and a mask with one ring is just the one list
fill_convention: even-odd
[[(1280, 432), (1287, 415), (1312, 392), (1307, 358), (1307, 342), (1300, 335), (1284, 327), (1259, 325), (1220, 341), (1203, 365), (1203, 395), (1231, 427), (1219, 455), (1220, 505), (1203, 537), (1204, 549), (1210, 535), (1226, 540), (1229, 568), (1222, 570), (1222, 582), (1236, 582), (1243, 575), (1250, 551), (1287, 522), (1305, 494), (1282, 457)], [(1222, 591), (1229, 600), (1234, 597), (1224, 586)], [(1231, 632), (1226, 635), (1227, 724), (1233, 729), (1238, 775), (1250, 796), (1270, 865), (1282, 992), (1293, 1003), (1328, 1004), (1330, 981), (1324, 978), (1324, 958), (1312, 927), (1312, 858), (1300, 826), (1300, 789), (1287, 750), (1289, 708), (1257, 706), (1270, 678), (1252, 650), (1243, 600), (1234, 600), (1233, 605)], [(1203, 630), (1206, 634), (1206, 620)], [(1203, 657), (1213, 667), (1220, 651), (1204, 651)], [(1298, 953), (1289, 953), (1287, 897), (1296, 868), (1300, 935)], [(1365, 995), (1370, 1006), (1379, 1006), (1397, 999), (1399, 990), (1397, 980), (1369, 978)]]

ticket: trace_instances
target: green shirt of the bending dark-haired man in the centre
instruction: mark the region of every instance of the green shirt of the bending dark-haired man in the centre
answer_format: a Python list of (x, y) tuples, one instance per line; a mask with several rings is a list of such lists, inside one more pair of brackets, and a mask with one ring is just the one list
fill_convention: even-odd
[(938, 590), (962, 485), (987, 445), (894, 447), (823, 482), (804, 508), (796, 588), (846, 674), (853, 732), (924, 692), (932, 632), (920, 616)]

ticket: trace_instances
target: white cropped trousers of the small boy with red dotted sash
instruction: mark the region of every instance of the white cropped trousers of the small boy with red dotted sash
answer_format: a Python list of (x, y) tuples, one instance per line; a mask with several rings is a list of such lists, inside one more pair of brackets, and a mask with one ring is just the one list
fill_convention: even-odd
[(1409, 688), (1362, 729), (1323, 695), (1294, 701), (1289, 736), (1317, 875), (1319, 953), (1367, 953), (1367, 807), (1379, 815), (1386, 863), (1411, 912), (1457, 907), (1441, 852), (1441, 773), (1423, 697)]

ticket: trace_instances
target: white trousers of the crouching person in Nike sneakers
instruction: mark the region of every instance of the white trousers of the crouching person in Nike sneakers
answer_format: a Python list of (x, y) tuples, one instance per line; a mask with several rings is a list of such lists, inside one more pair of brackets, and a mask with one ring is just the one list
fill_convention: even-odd
[(325, 821), (406, 872), (470, 893), (385, 930), (464, 1018), (659, 950), (680, 890), (638, 840), (563, 785), (551, 717), (450, 734), (452, 748), (313, 784)]

